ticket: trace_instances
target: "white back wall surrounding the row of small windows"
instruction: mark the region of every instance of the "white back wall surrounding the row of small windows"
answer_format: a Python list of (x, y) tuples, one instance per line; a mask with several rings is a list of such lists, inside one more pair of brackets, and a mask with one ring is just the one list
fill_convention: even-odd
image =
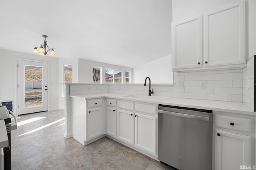
[[(124, 60), (124, 62), (125, 62), (125, 60)], [(133, 72), (132, 68), (78, 59), (78, 82), (79, 83), (92, 83), (92, 67), (93, 66), (102, 67), (102, 76), (103, 76), (102, 83), (103, 84), (105, 83), (105, 69), (106, 68), (123, 70), (122, 77), (125, 77), (124, 76), (125, 71), (130, 71), (131, 72), (131, 80), (132, 80), (132, 72)]]

